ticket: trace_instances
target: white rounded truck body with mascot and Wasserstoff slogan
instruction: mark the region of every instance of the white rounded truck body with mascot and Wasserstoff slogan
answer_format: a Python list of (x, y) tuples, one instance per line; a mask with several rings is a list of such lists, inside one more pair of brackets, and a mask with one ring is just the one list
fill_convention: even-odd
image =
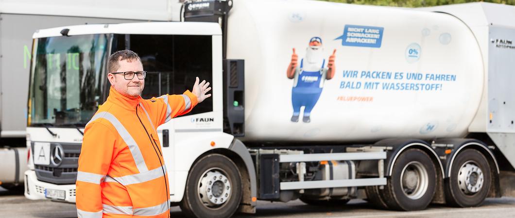
[(228, 25), (227, 58), (245, 60), (245, 141), (460, 137), (479, 107), (482, 56), (449, 14), (239, 0)]

